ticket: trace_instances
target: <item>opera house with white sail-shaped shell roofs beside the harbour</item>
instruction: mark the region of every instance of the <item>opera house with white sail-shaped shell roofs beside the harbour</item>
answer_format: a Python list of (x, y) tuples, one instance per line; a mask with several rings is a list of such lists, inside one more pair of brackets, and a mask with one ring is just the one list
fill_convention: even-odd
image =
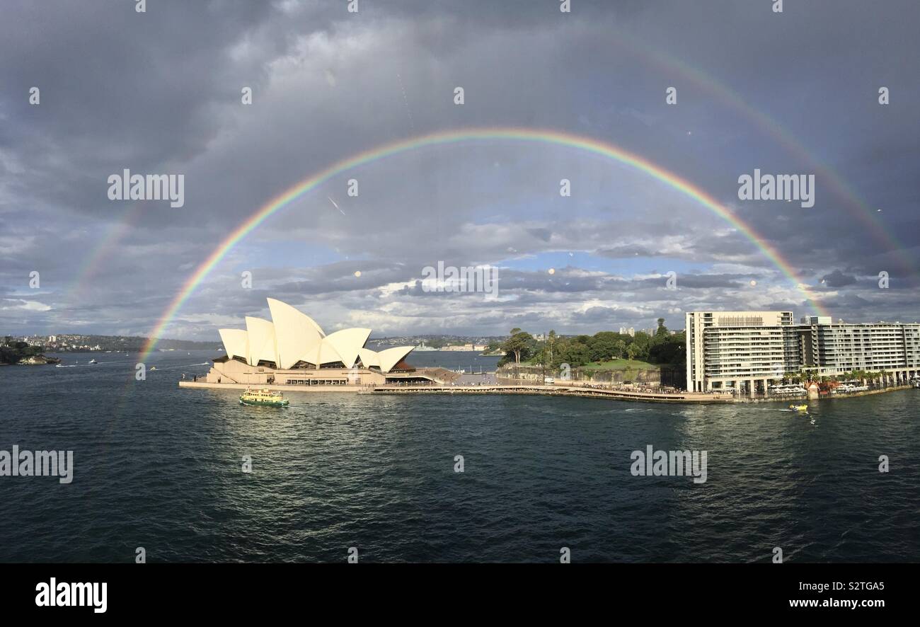
[(366, 348), (371, 329), (326, 335), (313, 318), (268, 299), (271, 320), (247, 316), (245, 329), (220, 329), (226, 355), (213, 360), (207, 383), (355, 386), (431, 382), (405, 359), (415, 347)]

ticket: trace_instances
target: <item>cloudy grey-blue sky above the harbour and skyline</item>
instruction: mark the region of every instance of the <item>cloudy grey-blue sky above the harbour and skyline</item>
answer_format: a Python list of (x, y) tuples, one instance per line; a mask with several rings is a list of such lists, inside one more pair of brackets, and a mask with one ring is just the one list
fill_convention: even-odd
[[(561, 4), (6, 0), (0, 333), (212, 340), (267, 297), (374, 336), (683, 328), (701, 309), (920, 319), (915, 0)], [(421, 146), (272, 213), (159, 324), (286, 189), (481, 127), (614, 146), (725, 215), (564, 143)], [(184, 204), (110, 199), (125, 169), (183, 175)], [(755, 169), (813, 176), (814, 205), (741, 199)], [(432, 290), (439, 262), (494, 268), (497, 288)]]

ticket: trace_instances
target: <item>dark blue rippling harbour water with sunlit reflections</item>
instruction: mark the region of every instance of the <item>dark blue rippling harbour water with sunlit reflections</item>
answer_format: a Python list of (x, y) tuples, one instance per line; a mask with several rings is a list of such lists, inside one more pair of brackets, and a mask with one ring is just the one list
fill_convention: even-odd
[[(146, 382), (117, 355), (0, 368), (0, 450), (75, 451), (70, 485), (0, 477), (0, 561), (920, 561), (917, 391), (813, 403), (813, 424), (538, 396), (290, 393), (280, 410), (179, 390), (210, 356), (157, 354)], [(707, 483), (632, 476), (648, 444), (707, 450)]]

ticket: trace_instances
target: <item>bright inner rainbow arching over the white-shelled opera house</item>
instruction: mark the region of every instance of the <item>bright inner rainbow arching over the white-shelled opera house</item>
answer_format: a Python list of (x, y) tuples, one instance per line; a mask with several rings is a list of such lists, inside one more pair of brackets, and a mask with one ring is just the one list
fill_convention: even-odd
[(335, 177), (336, 175), (339, 175), (342, 172), (350, 170), (351, 168), (357, 167), (359, 165), (365, 165), (378, 159), (383, 159), (395, 154), (406, 153), (410, 150), (424, 148), (427, 146), (443, 145), (456, 142), (494, 140), (543, 142), (568, 146), (571, 148), (578, 148), (592, 154), (600, 154), (602, 156), (614, 159), (621, 164), (635, 167), (638, 170), (641, 170), (642, 172), (650, 175), (651, 177), (654, 177), (667, 184), (671, 188), (683, 192), (686, 196), (695, 199), (709, 211), (712, 211), (720, 218), (730, 222), (732, 226), (734, 226), (745, 237), (751, 240), (751, 242), (753, 242), (753, 244), (756, 245), (757, 248), (759, 248), (764, 253), (764, 255), (770, 259), (771, 262), (773, 262), (776, 268), (778, 268), (789, 280), (791, 280), (796, 285), (799, 291), (801, 291), (805, 296), (806, 300), (811, 302), (811, 306), (819, 313), (826, 315), (826, 312), (823, 310), (822, 306), (816, 302), (814, 297), (811, 295), (808, 286), (805, 285), (801, 279), (799, 279), (795, 270), (789, 265), (788, 261), (781, 257), (776, 249), (770, 245), (763, 237), (754, 233), (750, 226), (739, 220), (736, 216), (732, 215), (730, 211), (719, 204), (718, 200), (709, 196), (706, 191), (701, 188), (697, 188), (681, 177), (677, 177), (668, 170), (665, 170), (664, 168), (651, 163), (648, 159), (645, 159), (638, 154), (629, 153), (611, 143), (599, 142), (589, 137), (583, 137), (581, 135), (575, 135), (566, 132), (552, 131), (547, 129), (470, 128), (456, 131), (438, 131), (416, 137), (410, 137), (398, 142), (391, 142), (377, 146), (360, 154), (355, 154), (353, 156), (342, 159), (335, 164), (329, 165), (326, 169), (317, 172), (311, 177), (305, 178), (303, 181), (295, 184), (293, 187), (283, 191), (280, 195), (270, 199), (269, 202), (267, 202), (259, 209), (259, 211), (253, 213), (251, 216), (249, 216), (249, 218), (247, 218), (246, 221), (242, 222), (238, 227), (236, 227), (236, 230), (233, 233), (227, 235), (224, 241), (221, 242), (221, 244), (216, 248), (214, 248), (211, 255), (208, 256), (201, 263), (201, 265), (195, 269), (190, 278), (182, 286), (182, 289), (178, 291), (176, 297), (172, 300), (172, 302), (169, 303), (166, 311), (164, 311), (164, 313), (160, 316), (159, 321), (155, 325), (154, 329), (150, 332), (147, 344), (144, 346), (144, 351), (142, 352), (142, 359), (146, 359), (150, 352), (155, 348), (156, 342), (158, 341), (157, 337), (163, 334), (163, 331), (166, 329), (167, 325), (172, 322), (173, 318), (182, 308), (182, 305), (188, 300), (192, 292), (195, 291), (201, 281), (208, 276), (211, 270), (221, 261), (221, 259), (224, 258), (224, 256), (230, 250), (233, 249), (237, 243), (245, 238), (247, 234), (252, 233), (253, 230), (258, 228), (259, 224), (269, 218), (269, 216), (275, 213), (275, 211), (281, 210), (293, 200), (300, 198), (305, 193), (325, 183), (329, 178)]

